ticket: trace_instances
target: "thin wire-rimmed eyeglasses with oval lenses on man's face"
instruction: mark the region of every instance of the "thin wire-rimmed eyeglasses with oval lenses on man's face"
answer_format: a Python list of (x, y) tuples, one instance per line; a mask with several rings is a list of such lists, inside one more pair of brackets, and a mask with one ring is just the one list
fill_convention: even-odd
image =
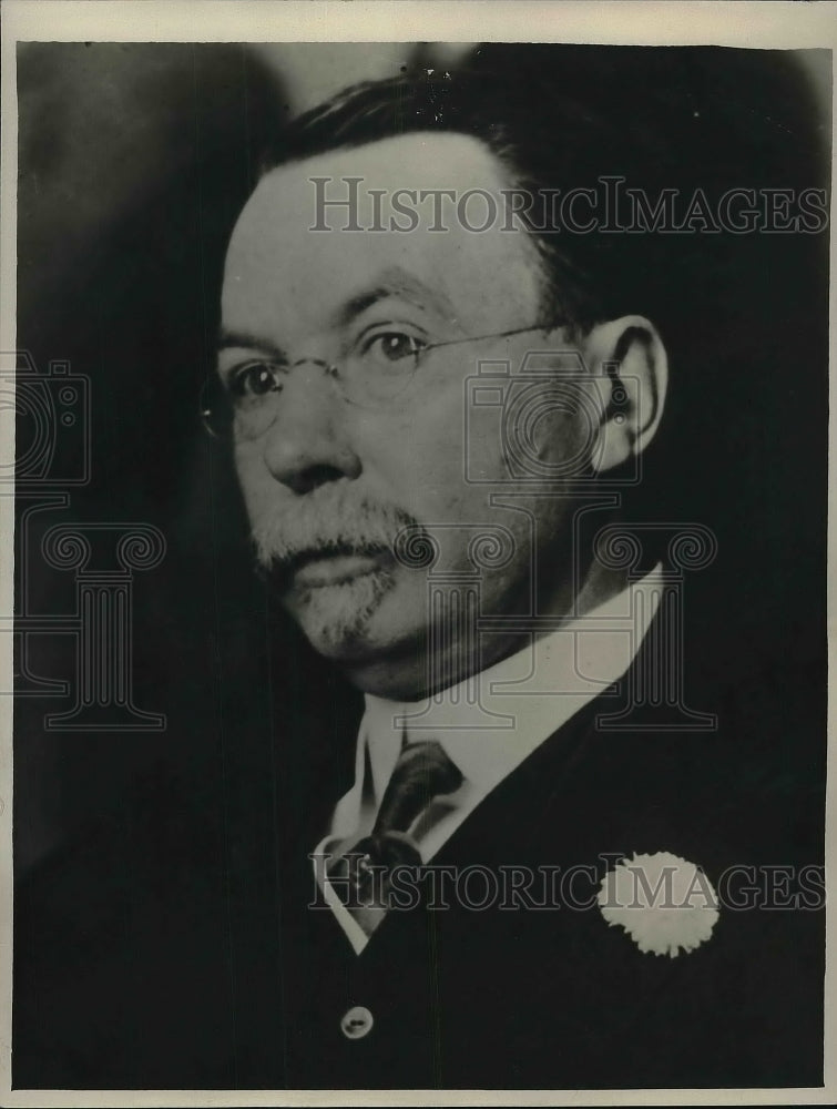
[(404, 324), (376, 325), (367, 328), (349, 347), (339, 366), (321, 358), (297, 358), (293, 363), (248, 358), (236, 365), (223, 380), (213, 374), (201, 395), (201, 418), (214, 438), (236, 442), (261, 438), (273, 427), (282, 409), (282, 394), (288, 376), (306, 364), (319, 366), (349, 404), (385, 410), (398, 401), (432, 350), (504, 339), (527, 332), (548, 332), (562, 326), (563, 322), (555, 321), (493, 335), (425, 343), (405, 330)]

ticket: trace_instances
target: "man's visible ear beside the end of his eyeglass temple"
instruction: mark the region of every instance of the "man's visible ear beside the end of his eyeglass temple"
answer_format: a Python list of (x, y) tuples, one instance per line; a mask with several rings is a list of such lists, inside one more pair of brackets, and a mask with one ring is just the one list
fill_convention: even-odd
[(654, 438), (665, 405), (668, 359), (644, 316), (596, 324), (584, 342), (588, 368), (603, 400), (593, 468), (603, 474), (643, 451)]

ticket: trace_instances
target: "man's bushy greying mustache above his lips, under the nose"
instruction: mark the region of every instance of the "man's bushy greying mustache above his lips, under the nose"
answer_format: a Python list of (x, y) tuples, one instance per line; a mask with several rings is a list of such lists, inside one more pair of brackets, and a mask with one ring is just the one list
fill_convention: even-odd
[(320, 486), (259, 520), (251, 538), (258, 568), (285, 577), (323, 554), (394, 552), (395, 538), (404, 528), (423, 531), (400, 506), (334, 485)]

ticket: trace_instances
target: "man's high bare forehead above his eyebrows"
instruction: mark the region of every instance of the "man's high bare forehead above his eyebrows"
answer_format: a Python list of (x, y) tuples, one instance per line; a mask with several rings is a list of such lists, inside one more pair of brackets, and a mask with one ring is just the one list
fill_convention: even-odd
[[(447, 305), (462, 326), (529, 323), (542, 279), (527, 233), (502, 230), (509, 185), (488, 147), (458, 134), (402, 135), (280, 166), (259, 182), (233, 233), (225, 323), (315, 329), (379, 274), (396, 271), (432, 288), (433, 307)], [(481, 232), (468, 224), (486, 222), (484, 196), (468, 201), (465, 225), (458, 216), (473, 190), (497, 204), (498, 217)], [(346, 203), (324, 206), (324, 199)], [(399, 203), (415, 215), (399, 214)], [(415, 226), (391, 230), (392, 220)], [(363, 230), (347, 230), (353, 223)]]

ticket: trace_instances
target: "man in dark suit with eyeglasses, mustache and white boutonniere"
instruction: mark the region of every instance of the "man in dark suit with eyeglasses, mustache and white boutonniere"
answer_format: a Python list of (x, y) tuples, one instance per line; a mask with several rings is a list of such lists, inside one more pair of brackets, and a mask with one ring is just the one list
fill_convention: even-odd
[[(629, 512), (665, 419), (642, 303), (665, 275), (627, 235), (549, 224), (549, 190), (643, 152), (532, 81), (349, 91), (282, 138), (233, 232), (204, 415), (272, 597), (364, 709), (306, 735), (305, 664), (278, 659), (277, 871), (236, 903), (242, 1020), (206, 996), (177, 1030), (203, 954), (163, 959), (188, 984), (165, 1035), (132, 994), (137, 1036), (157, 1058), (170, 1038), (193, 1085), (821, 1081), (816, 831), (789, 823), (817, 793), (783, 777), (777, 726), (793, 681), (725, 703), (693, 648), (684, 682), (678, 543), (700, 567), (712, 535)], [(174, 930), (203, 953), (198, 905)], [(89, 1044), (60, 1050), (84, 1072)]]

